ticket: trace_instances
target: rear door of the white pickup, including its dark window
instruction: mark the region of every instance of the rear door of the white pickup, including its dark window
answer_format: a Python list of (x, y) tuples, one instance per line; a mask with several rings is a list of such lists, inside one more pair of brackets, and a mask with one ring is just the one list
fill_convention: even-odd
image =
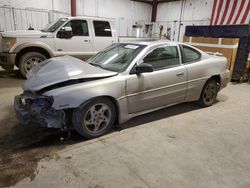
[(103, 50), (115, 41), (109, 21), (93, 20), (94, 53)]

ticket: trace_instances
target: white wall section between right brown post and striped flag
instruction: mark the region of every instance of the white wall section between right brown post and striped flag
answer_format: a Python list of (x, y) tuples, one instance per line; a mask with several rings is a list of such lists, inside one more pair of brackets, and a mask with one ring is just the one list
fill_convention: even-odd
[[(186, 25), (209, 25), (213, 0), (184, 0), (180, 40), (182, 41)], [(158, 4), (157, 25), (163, 25), (163, 33), (171, 40), (178, 40), (179, 20), (182, 1)]]

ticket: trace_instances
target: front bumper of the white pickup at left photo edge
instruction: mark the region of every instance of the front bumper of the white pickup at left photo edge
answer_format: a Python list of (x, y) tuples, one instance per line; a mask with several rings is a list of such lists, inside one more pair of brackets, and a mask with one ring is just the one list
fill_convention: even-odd
[(0, 53), (0, 66), (6, 70), (13, 70), (16, 54)]

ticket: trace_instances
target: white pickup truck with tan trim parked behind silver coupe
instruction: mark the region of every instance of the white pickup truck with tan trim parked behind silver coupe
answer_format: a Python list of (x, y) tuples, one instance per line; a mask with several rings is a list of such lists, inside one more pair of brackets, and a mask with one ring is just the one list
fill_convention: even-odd
[(34, 64), (47, 58), (71, 55), (86, 59), (112, 43), (128, 40), (142, 39), (118, 37), (113, 19), (60, 18), (40, 31), (0, 33), (0, 66), (13, 70), (16, 65), (25, 77)]

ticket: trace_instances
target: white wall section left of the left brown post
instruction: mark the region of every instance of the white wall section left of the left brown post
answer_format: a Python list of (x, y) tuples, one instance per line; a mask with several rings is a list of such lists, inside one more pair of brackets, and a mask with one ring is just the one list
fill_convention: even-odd
[(0, 30), (42, 29), (50, 21), (70, 15), (70, 0), (1, 0)]

